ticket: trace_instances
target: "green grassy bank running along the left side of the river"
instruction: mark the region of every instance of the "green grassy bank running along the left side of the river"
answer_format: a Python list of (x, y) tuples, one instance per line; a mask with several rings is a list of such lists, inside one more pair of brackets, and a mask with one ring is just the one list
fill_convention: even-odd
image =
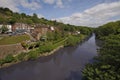
[[(72, 40), (71, 40), (72, 37)], [(29, 52), (20, 53), (18, 55), (8, 55), (4, 59), (0, 60), (1, 67), (4, 67), (6, 65), (12, 65), (14, 63), (18, 63), (21, 61), (26, 60), (34, 60), (37, 59), (40, 56), (48, 56), (53, 54), (56, 50), (63, 46), (74, 46), (75, 44), (78, 44), (78, 42), (82, 41), (86, 36), (85, 35), (74, 35), (69, 36), (67, 38), (61, 38), (56, 41), (51, 42), (45, 42), (43, 45), (40, 45), (38, 48), (34, 48), (30, 50)], [(71, 40), (71, 41), (69, 41)]]

